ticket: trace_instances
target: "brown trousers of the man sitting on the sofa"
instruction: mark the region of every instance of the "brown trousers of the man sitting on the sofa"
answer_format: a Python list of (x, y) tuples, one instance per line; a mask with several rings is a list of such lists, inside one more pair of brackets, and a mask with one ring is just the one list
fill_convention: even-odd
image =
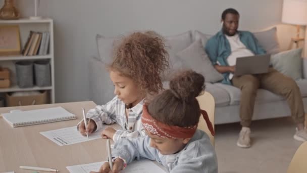
[(286, 98), (295, 123), (304, 123), (304, 107), (295, 81), (274, 68), (268, 73), (233, 76), (232, 83), (241, 90), (240, 118), (242, 126), (250, 126), (255, 97), (259, 88)]

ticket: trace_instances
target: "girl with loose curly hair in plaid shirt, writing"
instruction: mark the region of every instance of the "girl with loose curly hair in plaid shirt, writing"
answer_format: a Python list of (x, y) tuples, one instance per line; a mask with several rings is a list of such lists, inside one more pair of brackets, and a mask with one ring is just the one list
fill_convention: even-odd
[(122, 129), (107, 127), (101, 136), (113, 141), (145, 136), (141, 125), (142, 107), (147, 96), (162, 91), (161, 75), (166, 68), (168, 53), (160, 35), (147, 31), (124, 37), (114, 48), (113, 62), (108, 65), (116, 97), (105, 105), (90, 109), (86, 114), (87, 128), (83, 121), (78, 124), (80, 133), (91, 134), (101, 129), (104, 123), (118, 123)]

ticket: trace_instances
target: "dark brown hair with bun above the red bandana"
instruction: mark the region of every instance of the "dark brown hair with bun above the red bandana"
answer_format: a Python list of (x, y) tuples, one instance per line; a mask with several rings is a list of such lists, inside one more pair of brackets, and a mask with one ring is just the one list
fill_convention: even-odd
[(149, 103), (148, 112), (168, 125), (196, 125), (200, 116), (196, 97), (201, 95), (204, 88), (204, 77), (201, 74), (192, 70), (177, 73), (170, 81), (170, 89)]

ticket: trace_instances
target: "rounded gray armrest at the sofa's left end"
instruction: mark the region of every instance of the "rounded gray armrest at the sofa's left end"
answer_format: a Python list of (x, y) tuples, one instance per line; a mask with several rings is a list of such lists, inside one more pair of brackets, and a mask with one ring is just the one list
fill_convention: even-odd
[(106, 65), (100, 59), (90, 57), (88, 66), (89, 99), (97, 105), (106, 104), (115, 96)]

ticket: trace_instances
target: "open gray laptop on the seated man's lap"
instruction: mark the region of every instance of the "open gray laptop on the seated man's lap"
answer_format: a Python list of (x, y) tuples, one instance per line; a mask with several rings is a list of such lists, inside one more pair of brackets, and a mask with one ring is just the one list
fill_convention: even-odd
[(234, 75), (267, 73), (270, 66), (270, 57), (270, 54), (265, 54), (237, 58)]

